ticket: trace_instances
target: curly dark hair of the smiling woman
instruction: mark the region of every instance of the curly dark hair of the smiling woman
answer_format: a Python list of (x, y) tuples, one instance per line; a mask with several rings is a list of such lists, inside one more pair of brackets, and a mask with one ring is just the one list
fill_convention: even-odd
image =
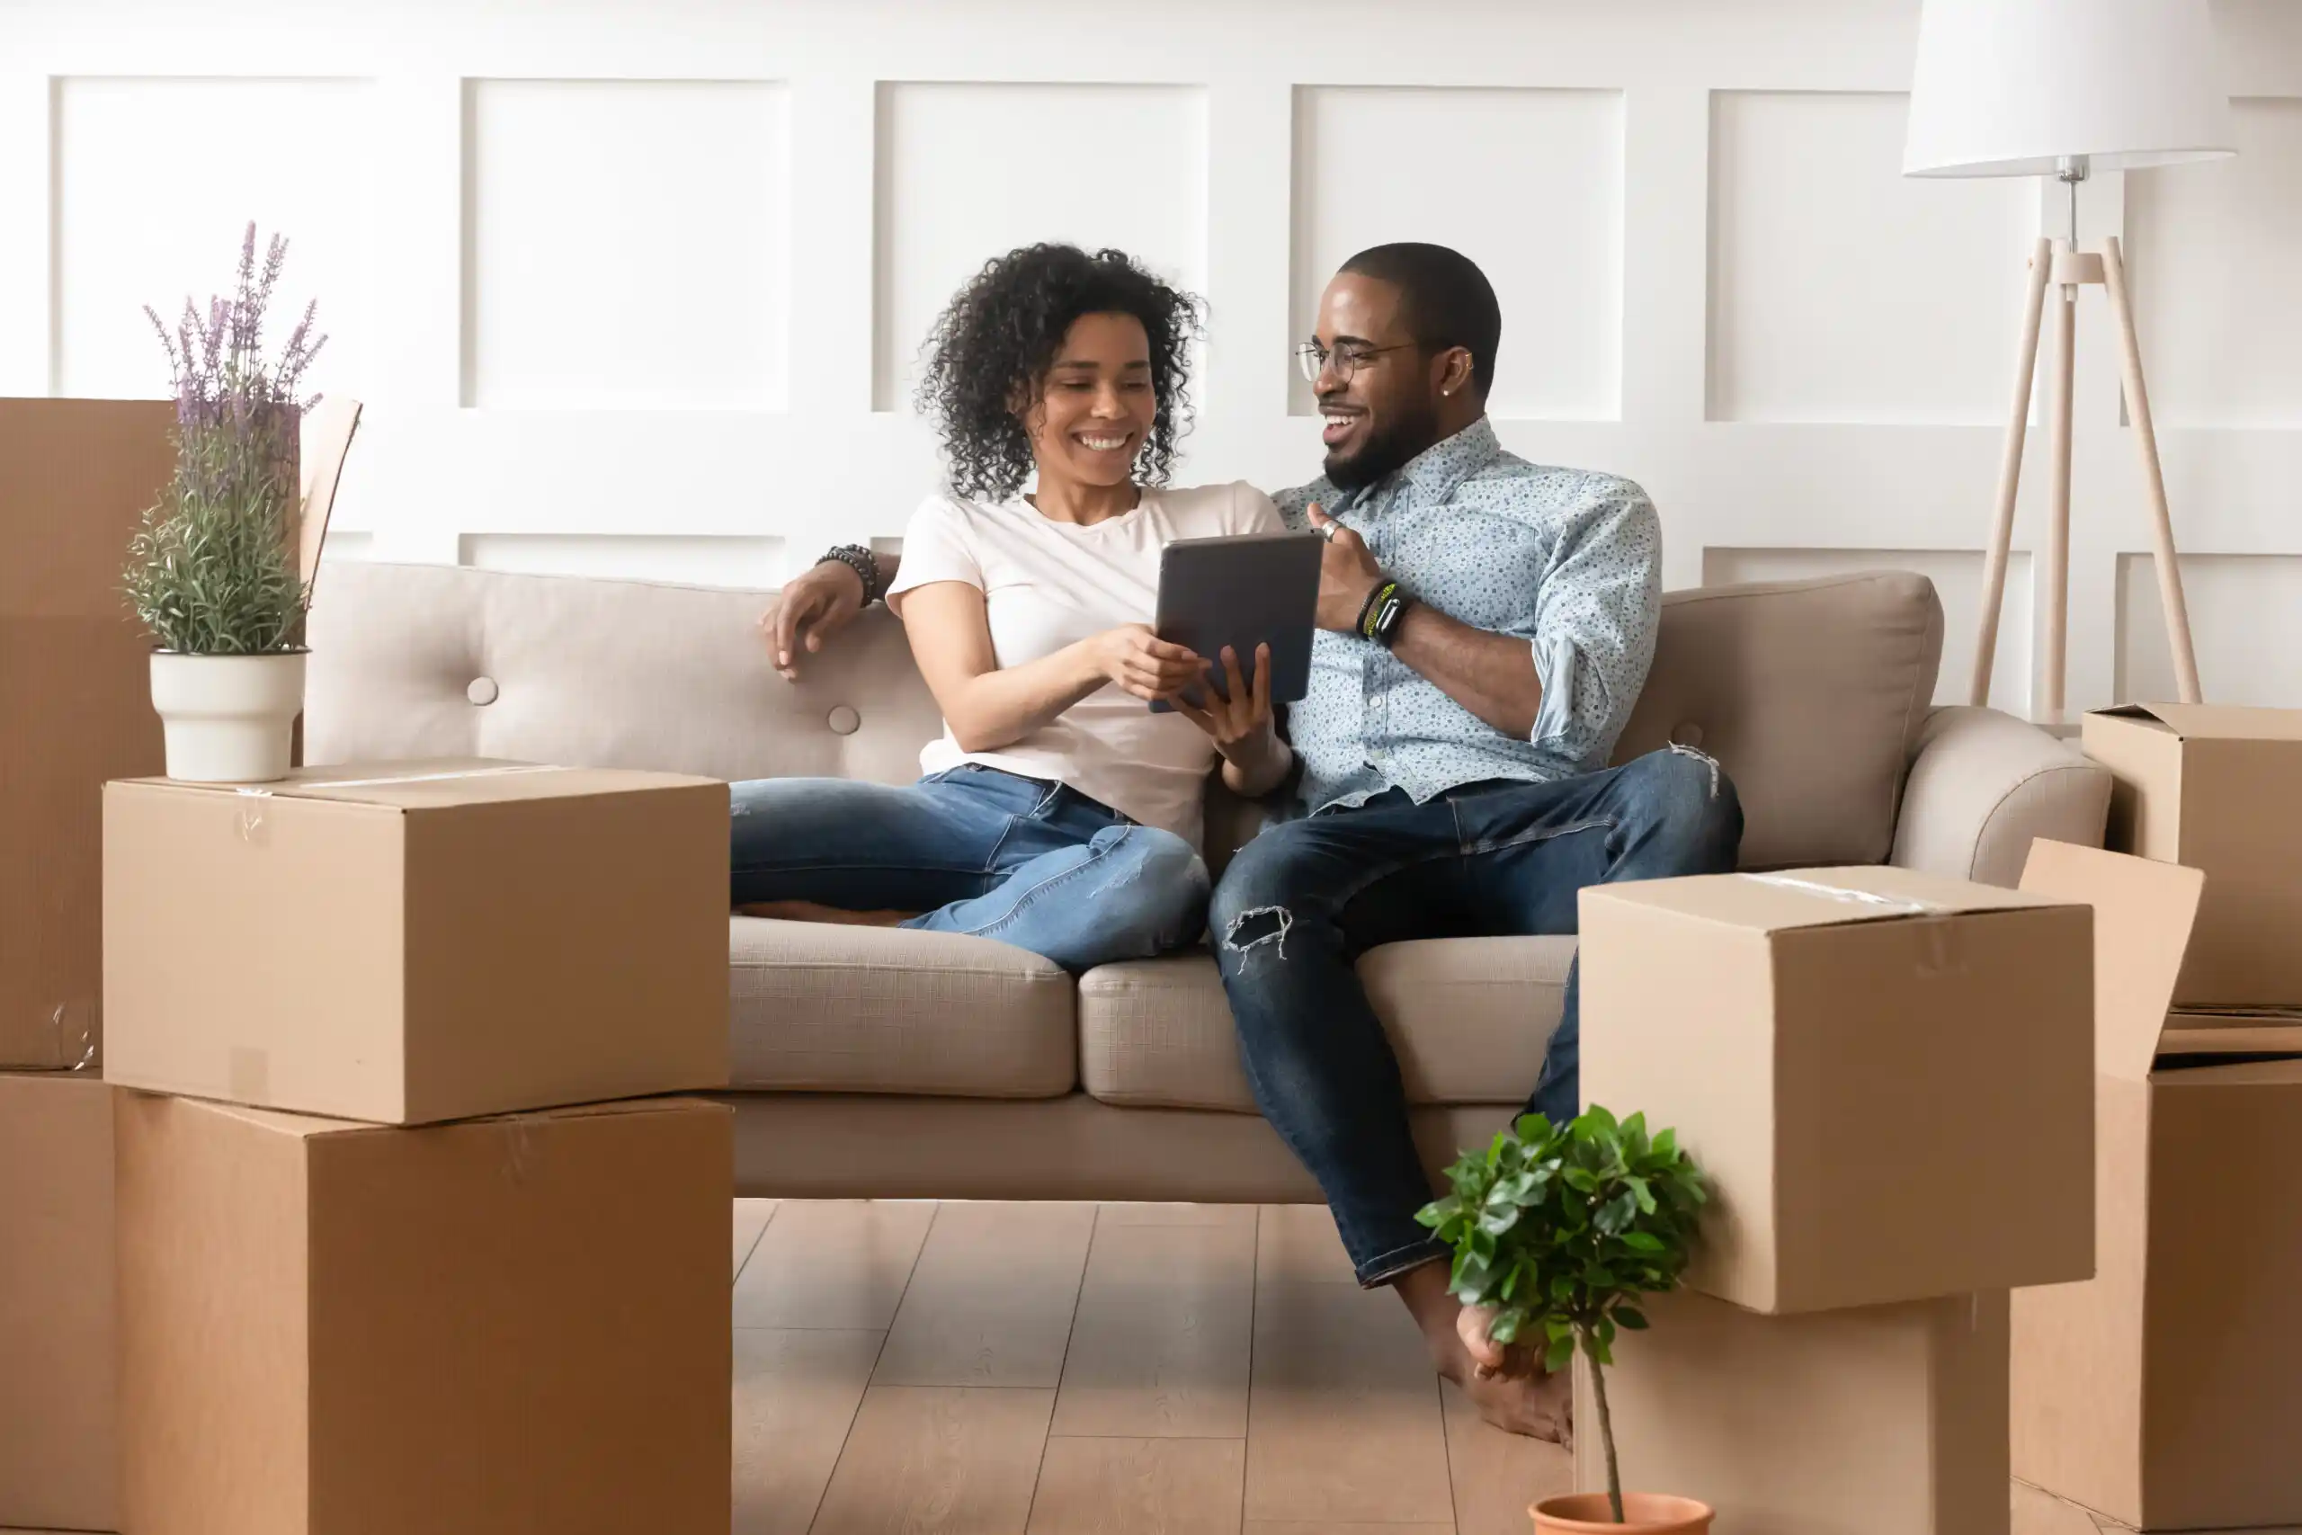
[(1036, 400), (1057, 348), (1082, 315), (1135, 315), (1151, 338), (1151, 433), (1135, 474), (1167, 483), (1190, 430), (1190, 341), (1199, 299), (1151, 276), (1126, 251), (1038, 244), (983, 262), (928, 334), (918, 410), (935, 417), (951, 488), (1004, 499), (1031, 474), (1015, 396)]

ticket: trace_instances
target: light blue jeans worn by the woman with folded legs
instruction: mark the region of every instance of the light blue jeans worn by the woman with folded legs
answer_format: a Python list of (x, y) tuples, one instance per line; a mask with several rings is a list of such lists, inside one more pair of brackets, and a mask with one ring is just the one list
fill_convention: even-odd
[(1066, 971), (1149, 960), (1206, 925), (1206, 863), (1077, 789), (988, 766), (909, 787), (760, 778), (732, 789), (730, 895), (969, 932)]

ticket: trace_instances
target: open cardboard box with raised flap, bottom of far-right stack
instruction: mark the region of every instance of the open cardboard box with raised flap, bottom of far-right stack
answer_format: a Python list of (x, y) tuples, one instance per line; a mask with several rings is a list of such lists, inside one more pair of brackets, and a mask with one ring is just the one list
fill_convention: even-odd
[(2014, 1296), (2014, 1475), (2145, 1530), (2302, 1523), (2295, 1029), (2166, 1017), (2196, 870), (2037, 842), (2023, 886), (2095, 902), (2099, 1257)]

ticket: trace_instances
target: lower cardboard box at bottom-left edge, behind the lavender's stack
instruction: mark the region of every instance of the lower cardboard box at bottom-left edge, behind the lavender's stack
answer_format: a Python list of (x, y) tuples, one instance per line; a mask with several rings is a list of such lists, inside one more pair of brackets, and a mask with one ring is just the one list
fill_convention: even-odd
[(117, 1530), (113, 1089), (0, 1072), (0, 1526)]

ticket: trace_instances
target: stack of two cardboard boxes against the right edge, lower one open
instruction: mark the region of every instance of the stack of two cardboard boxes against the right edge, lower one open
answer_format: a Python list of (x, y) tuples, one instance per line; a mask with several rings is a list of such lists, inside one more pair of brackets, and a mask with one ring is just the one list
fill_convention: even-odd
[[(2014, 1298), (2014, 1473), (2145, 1530), (2302, 1521), (2302, 711), (2088, 716), (2095, 1280)], [(2139, 854), (2139, 856), (2134, 856)], [(2189, 868), (2178, 868), (2189, 865)]]

